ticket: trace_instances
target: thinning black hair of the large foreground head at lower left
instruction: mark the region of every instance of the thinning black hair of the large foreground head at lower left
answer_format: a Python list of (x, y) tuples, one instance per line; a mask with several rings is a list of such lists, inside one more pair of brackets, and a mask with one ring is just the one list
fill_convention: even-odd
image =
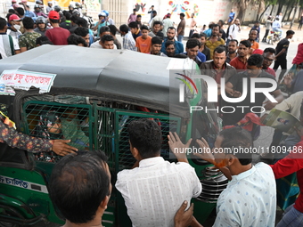
[(71, 223), (88, 223), (102, 200), (110, 196), (107, 158), (102, 151), (78, 151), (53, 167), (49, 195)]

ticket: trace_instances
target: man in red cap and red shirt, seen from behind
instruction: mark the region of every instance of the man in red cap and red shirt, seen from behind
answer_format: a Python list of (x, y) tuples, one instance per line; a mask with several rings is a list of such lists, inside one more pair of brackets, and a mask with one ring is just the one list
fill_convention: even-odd
[(68, 45), (68, 37), (70, 31), (59, 27), (60, 15), (58, 12), (51, 11), (48, 13), (48, 19), (53, 26), (45, 32), (45, 36), (53, 43), (53, 45)]

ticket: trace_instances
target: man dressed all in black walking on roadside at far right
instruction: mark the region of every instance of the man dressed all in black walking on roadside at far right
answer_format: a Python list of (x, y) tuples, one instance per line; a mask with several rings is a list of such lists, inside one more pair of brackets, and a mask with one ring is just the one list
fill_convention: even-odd
[(289, 39), (292, 38), (292, 36), (295, 34), (295, 32), (293, 30), (288, 30), (286, 32), (286, 37), (283, 38), (278, 45), (276, 45), (275, 47), (275, 61), (274, 61), (274, 70), (276, 71), (276, 69), (279, 68), (279, 66), (281, 66), (281, 73), (279, 76), (279, 80), (278, 80), (278, 84), (281, 82), (286, 69), (287, 69), (287, 60), (286, 60), (286, 56), (287, 56), (287, 51), (288, 51), (288, 47), (290, 45), (290, 41)]

